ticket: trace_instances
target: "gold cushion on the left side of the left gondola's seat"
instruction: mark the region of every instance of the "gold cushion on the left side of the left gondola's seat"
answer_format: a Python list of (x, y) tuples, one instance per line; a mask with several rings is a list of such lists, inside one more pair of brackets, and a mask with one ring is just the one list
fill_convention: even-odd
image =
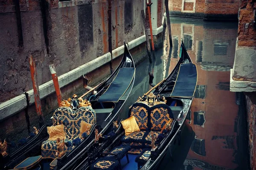
[(56, 125), (56, 126), (47, 127), (47, 132), (49, 134), (48, 140), (50, 140), (50, 141), (57, 140), (58, 138), (66, 139), (64, 125)]

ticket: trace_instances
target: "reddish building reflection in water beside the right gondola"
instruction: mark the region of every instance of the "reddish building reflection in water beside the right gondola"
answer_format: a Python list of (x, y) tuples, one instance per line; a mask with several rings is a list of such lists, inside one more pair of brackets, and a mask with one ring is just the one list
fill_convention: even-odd
[[(171, 22), (172, 59), (179, 56), (183, 40), (198, 68), (198, 85), (187, 118), (187, 123), (195, 131), (195, 139), (183, 168), (236, 169), (239, 167), (236, 161), (239, 106), (236, 94), (229, 91), (229, 82), (237, 23), (207, 23), (181, 18), (171, 18)], [(171, 63), (170, 67), (175, 64)]]

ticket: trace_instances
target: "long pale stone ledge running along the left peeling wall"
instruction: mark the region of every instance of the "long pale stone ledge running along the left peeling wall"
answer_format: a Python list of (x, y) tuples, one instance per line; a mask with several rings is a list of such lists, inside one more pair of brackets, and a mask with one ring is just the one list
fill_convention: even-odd
[[(145, 41), (146, 41), (145, 35), (138, 37), (137, 39), (132, 40), (131, 42), (128, 42), (128, 45), (129, 45), (128, 48), (132, 49), (142, 44)], [(115, 59), (116, 57), (119, 57), (123, 53), (124, 53), (124, 45), (114, 49), (112, 51), (112, 57), (113, 59)], [(90, 73), (91, 71), (96, 70), (97, 68), (107, 64), (110, 61), (111, 61), (111, 54), (108, 52), (107, 54), (104, 54), (101, 57), (98, 57), (90, 62), (85, 63), (84, 65), (79, 66), (78, 68), (75, 68), (59, 76), (58, 81), (59, 81), (60, 88), (79, 79), (82, 76), (82, 74)], [(52, 80), (42, 85), (39, 85), (40, 99), (43, 99), (54, 92), (55, 92), (55, 88)], [(33, 89), (28, 91), (27, 93), (29, 94), (29, 105), (34, 104), (35, 97), (34, 97)], [(0, 120), (5, 119), (9, 116), (12, 116), (13, 114), (19, 111), (22, 111), (24, 108), (26, 108), (26, 106), (27, 106), (26, 96), (24, 94), (17, 96), (15, 98), (12, 98), (6, 102), (3, 102), (2, 104), (0, 104), (0, 113), (2, 113), (0, 114)]]

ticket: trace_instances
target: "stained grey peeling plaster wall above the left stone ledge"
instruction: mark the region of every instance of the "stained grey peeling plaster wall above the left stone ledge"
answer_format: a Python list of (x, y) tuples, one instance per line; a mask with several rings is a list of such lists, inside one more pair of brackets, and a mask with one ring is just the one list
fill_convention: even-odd
[[(22, 47), (18, 47), (14, 4), (12, 0), (0, 3), (0, 103), (32, 89), (29, 54), (35, 57), (41, 85), (51, 79), (50, 64), (62, 75), (108, 52), (108, 2), (84, 3), (89, 4), (58, 8), (58, 0), (20, 0)], [(144, 1), (112, 3), (114, 49), (124, 39), (129, 42), (143, 35), (138, 16)]]

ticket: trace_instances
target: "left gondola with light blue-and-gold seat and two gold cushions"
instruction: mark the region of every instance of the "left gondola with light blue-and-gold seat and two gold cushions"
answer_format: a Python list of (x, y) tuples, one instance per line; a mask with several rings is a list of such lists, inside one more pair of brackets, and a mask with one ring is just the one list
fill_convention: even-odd
[[(63, 100), (52, 116), (52, 126), (44, 125), (29, 142), (13, 153), (0, 154), (0, 169), (63, 169), (94, 139), (95, 131), (104, 133), (112, 128), (134, 85), (135, 65), (124, 41), (122, 61), (108, 79), (90, 88), (84, 77), (86, 94)], [(89, 93), (92, 92), (92, 93)], [(0, 143), (7, 148), (7, 142)], [(3, 147), (2, 147), (3, 146)], [(82, 156), (80, 156), (82, 158)], [(65, 168), (64, 168), (65, 169)]]

